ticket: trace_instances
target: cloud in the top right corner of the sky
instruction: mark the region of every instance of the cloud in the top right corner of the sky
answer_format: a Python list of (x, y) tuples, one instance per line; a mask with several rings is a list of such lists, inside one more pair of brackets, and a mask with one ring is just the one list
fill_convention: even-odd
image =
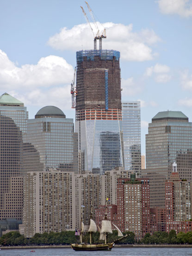
[(178, 14), (182, 17), (192, 16), (191, 0), (158, 0), (161, 13)]

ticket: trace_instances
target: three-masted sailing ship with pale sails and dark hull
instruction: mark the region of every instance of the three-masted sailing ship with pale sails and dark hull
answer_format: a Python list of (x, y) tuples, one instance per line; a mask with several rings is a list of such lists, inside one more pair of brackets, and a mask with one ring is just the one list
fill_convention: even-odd
[(79, 235), (80, 235), (80, 243), (71, 243), (71, 248), (74, 250), (82, 250), (82, 251), (97, 251), (97, 250), (111, 250), (114, 246), (115, 243), (118, 243), (118, 241), (124, 239), (125, 237), (127, 237), (128, 235), (123, 235), (122, 232), (119, 230), (119, 228), (113, 224), (115, 226), (115, 228), (118, 230), (118, 239), (111, 242), (111, 243), (107, 243), (107, 237), (108, 234), (112, 234), (112, 227), (111, 227), (111, 221), (107, 220), (107, 200), (105, 203), (105, 218), (104, 220), (102, 220), (102, 224), (101, 224), (101, 229), (98, 226), (99, 229), (99, 240), (104, 240), (104, 243), (92, 243), (93, 242), (93, 233), (97, 232), (97, 225), (93, 220), (93, 205), (91, 202), (91, 215), (90, 215), (90, 226), (89, 226), (89, 230), (88, 233), (90, 234), (90, 238), (89, 238), (89, 243), (83, 243), (82, 238), (83, 238), (83, 233), (85, 232), (85, 226), (83, 223), (83, 219), (82, 219), (82, 206), (81, 206), (81, 230), (79, 231)]

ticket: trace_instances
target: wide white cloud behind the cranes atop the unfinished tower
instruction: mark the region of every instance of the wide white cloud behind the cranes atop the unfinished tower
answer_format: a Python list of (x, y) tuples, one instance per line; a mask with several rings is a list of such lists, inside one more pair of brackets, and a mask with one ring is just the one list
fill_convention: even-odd
[[(93, 24), (92, 24), (93, 25)], [(140, 32), (133, 32), (133, 26), (114, 24), (107, 22), (100, 24), (100, 31), (103, 26), (106, 28), (107, 39), (103, 39), (103, 49), (115, 49), (121, 52), (121, 59), (131, 61), (145, 61), (153, 59), (151, 45), (160, 39), (153, 30), (142, 29)], [(48, 44), (57, 50), (76, 51), (83, 46), (86, 49), (93, 49), (93, 34), (87, 24), (80, 24), (67, 29), (63, 27), (60, 33), (50, 37)]]

